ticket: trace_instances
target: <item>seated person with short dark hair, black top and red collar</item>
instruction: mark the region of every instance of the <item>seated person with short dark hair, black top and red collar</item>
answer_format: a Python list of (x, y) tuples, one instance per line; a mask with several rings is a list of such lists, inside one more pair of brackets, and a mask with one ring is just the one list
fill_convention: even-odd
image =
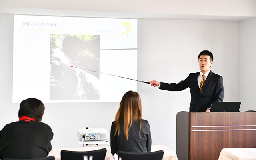
[(35, 98), (20, 103), (19, 121), (6, 124), (0, 134), (0, 159), (46, 157), (52, 150), (52, 129), (40, 122), (44, 104)]

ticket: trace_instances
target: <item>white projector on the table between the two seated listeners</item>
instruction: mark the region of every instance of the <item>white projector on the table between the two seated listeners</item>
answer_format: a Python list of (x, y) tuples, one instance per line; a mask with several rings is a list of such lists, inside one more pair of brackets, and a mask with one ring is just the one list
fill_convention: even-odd
[(108, 131), (104, 128), (85, 127), (77, 130), (77, 136), (83, 141), (108, 141)]

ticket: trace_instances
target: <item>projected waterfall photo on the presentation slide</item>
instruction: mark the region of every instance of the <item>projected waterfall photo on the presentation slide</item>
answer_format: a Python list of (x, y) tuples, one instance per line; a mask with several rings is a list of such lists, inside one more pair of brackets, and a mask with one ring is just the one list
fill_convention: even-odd
[(98, 100), (100, 36), (50, 35), (50, 100)]

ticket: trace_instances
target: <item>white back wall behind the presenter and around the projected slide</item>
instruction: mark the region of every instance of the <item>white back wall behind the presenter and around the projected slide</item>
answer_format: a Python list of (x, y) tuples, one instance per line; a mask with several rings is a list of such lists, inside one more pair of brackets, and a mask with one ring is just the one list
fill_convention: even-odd
[[(0, 128), (18, 120), (19, 104), (12, 104), (12, 14), (0, 14)], [(4, 25), (2, 25), (4, 24)], [(212, 71), (224, 78), (224, 100), (238, 96), (238, 22), (192, 20), (138, 20), (138, 80), (180, 82), (190, 72), (198, 72), (198, 54), (214, 54)], [(40, 92), (40, 91), (39, 91)], [(150, 122), (153, 144), (176, 150), (176, 114), (188, 111), (190, 92), (168, 92), (138, 83), (143, 116)], [(84, 126), (106, 128), (118, 103), (45, 104), (42, 122), (54, 132), (52, 146), (76, 147), (77, 129)]]

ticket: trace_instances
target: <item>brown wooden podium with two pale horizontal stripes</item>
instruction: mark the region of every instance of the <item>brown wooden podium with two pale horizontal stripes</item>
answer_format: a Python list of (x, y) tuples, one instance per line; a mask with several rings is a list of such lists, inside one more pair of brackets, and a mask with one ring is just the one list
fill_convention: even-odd
[(256, 148), (256, 112), (178, 112), (178, 160), (218, 160), (222, 148)]

